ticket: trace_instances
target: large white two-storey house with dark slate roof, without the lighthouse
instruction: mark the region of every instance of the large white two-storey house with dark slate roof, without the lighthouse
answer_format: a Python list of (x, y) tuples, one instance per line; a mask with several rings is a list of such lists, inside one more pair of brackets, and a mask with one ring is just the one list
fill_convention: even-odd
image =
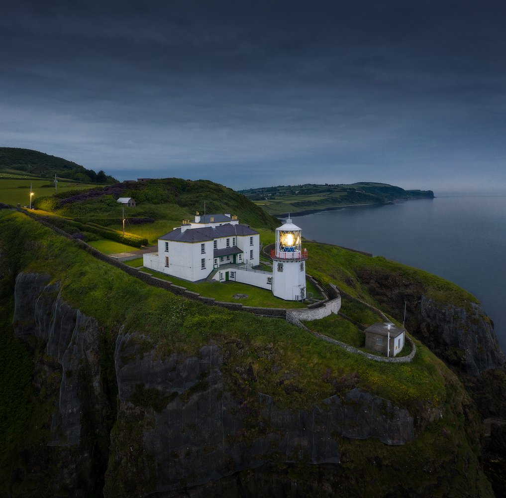
[[(197, 213), (194, 221), (183, 220), (181, 226), (162, 235), (158, 252), (143, 256), (147, 268), (190, 282), (207, 278), (227, 263), (260, 264), (259, 233), (230, 214)], [(229, 272), (223, 276), (224, 280), (228, 277)]]

